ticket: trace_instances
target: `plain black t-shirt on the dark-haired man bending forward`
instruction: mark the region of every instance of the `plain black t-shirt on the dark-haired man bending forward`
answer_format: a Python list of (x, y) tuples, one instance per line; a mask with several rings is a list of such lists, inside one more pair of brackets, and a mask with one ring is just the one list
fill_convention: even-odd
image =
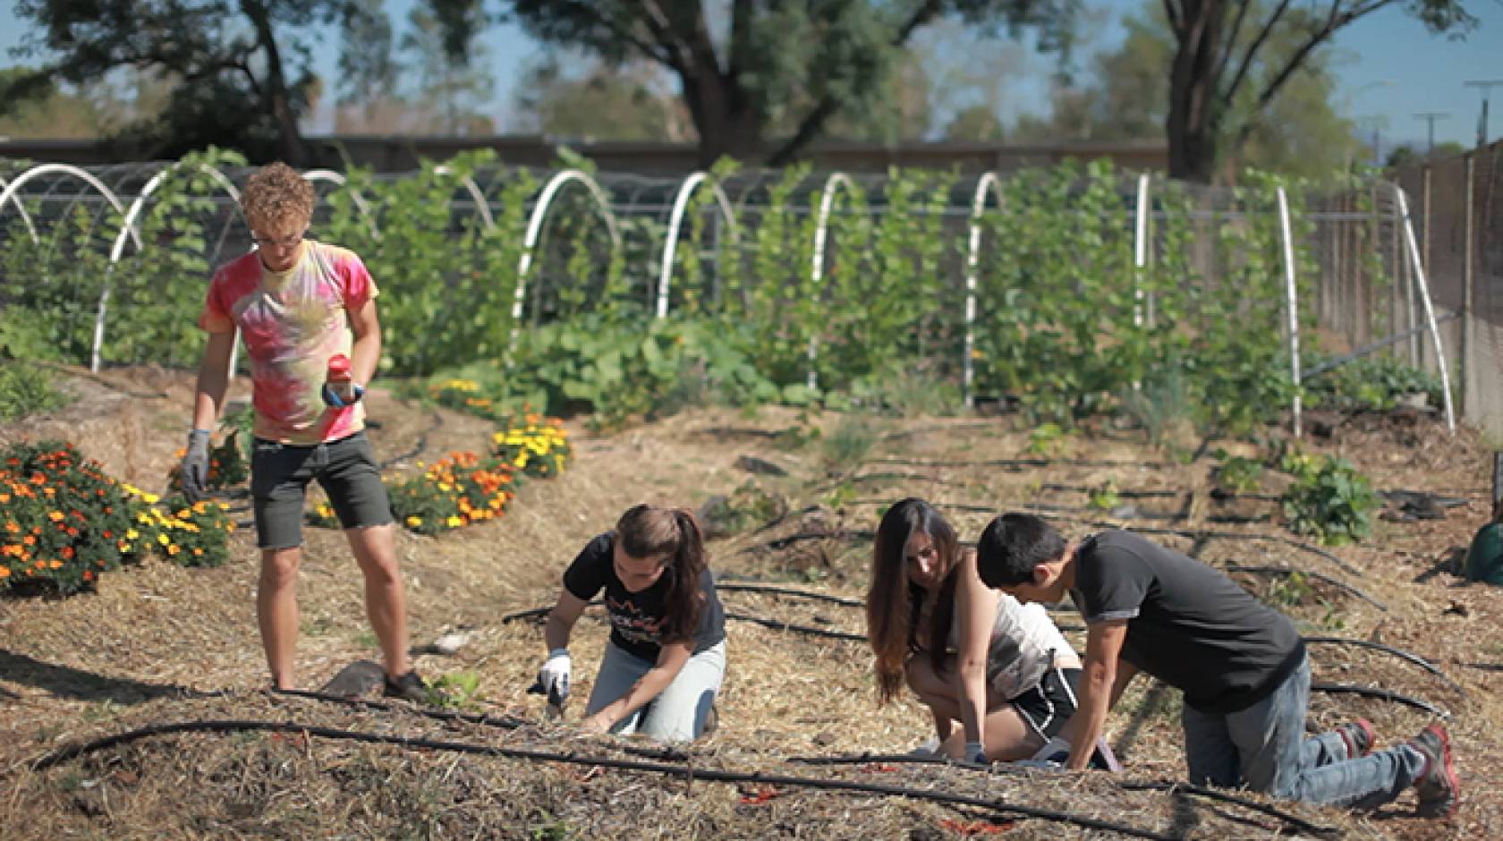
[(1287, 616), (1189, 556), (1114, 530), (1084, 541), (1075, 559), (1072, 596), (1085, 622), (1126, 619), (1121, 658), (1201, 712), (1247, 709), (1305, 658)]

